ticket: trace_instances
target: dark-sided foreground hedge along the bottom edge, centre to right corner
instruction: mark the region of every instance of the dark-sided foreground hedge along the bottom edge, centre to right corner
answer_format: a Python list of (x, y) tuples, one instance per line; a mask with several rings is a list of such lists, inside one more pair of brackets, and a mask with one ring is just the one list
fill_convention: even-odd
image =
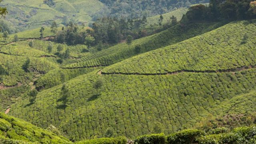
[(235, 128), (220, 134), (206, 134), (202, 130), (184, 130), (165, 136), (150, 134), (139, 136), (135, 144), (255, 144), (256, 126)]

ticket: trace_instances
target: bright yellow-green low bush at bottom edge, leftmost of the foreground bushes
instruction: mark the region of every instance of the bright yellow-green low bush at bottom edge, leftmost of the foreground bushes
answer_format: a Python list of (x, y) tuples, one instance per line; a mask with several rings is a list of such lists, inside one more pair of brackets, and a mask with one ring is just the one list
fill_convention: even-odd
[(126, 144), (126, 143), (127, 143), (127, 139), (125, 137), (97, 138), (93, 140), (76, 142), (76, 144)]

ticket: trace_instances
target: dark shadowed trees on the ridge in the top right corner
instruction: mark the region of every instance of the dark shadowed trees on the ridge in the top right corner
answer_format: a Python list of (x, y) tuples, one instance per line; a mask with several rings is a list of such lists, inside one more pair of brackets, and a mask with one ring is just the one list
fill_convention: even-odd
[(181, 22), (253, 18), (256, 18), (256, 1), (254, 0), (210, 0), (209, 6), (199, 4), (190, 7)]

